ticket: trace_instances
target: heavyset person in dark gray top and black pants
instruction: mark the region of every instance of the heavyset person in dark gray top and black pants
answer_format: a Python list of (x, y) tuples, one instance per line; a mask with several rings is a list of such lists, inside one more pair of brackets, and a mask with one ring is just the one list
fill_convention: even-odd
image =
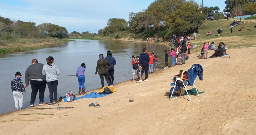
[(37, 59), (32, 59), (31, 63), (25, 72), (25, 88), (29, 84), (31, 86), (30, 107), (34, 107), (37, 92), (39, 92), (39, 106), (43, 106), (45, 104), (44, 92), (46, 88), (46, 76), (42, 73), (44, 65), (38, 63)]

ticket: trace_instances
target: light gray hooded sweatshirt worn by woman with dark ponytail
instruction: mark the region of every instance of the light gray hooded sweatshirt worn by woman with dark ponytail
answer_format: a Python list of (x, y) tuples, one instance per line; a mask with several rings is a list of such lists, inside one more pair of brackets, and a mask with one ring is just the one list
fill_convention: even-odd
[(43, 66), (43, 75), (46, 75), (46, 81), (52, 82), (58, 80), (58, 75), (60, 74), (60, 70), (57, 65), (54, 63), (49, 66), (48, 64)]

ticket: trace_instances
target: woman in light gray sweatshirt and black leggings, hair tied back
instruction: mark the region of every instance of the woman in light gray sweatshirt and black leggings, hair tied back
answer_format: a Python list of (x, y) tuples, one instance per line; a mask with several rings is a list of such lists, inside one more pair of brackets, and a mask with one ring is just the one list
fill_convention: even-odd
[[(43, 66), (43, 75), (46, 75), (46, 81), (48, 85), (48, 89), (50, 92), (50, 103), (49, 106), (53, 104), (57, 104), (57, 86), (58, 86), (58, 75), (60, 74), (60, 70), (57, 65), (54, 64), (53, 57), (49, 56), (46, 58), (47, 65)], [(54, 94), (54, 102), (53, 102), (53, 94)]]

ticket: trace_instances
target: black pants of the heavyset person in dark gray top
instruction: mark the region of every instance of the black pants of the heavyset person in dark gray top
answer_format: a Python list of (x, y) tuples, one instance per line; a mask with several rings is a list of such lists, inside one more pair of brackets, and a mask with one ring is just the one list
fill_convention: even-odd
[(36, 101), (36, 95), (39, 91), (39, 102), (44, 102), (44, 91), (46, 88), (46, 80), (37, 81), (37, 80), (30, 80), (31, 86), (31, 95), (30, 95), (30, 103), (34, 104)]

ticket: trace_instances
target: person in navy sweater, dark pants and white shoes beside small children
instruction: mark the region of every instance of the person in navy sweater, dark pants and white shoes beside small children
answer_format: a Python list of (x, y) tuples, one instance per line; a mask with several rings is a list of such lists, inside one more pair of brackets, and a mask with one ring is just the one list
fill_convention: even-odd
[[(143, 53), (140, 54), (140, 62), (139, 62), (139, 66), (141, 68), (141, 76), (143, 75), (143, 73), (145, 72), (145, 81), (148, 81), (148, 70), (149, 70), (149, 55), (147, 53), (147, 49), (144, 47), (142, 48)], [(138, 83), (142, 82), (142, 77), (140, 77), (140, 80), (138, 81)]]

